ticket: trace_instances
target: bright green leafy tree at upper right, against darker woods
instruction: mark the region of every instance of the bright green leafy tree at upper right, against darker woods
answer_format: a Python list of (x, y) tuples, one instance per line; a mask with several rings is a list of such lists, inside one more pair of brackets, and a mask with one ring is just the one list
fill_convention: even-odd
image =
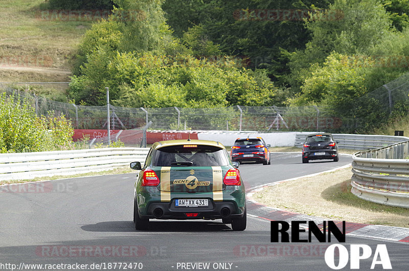
[[(323, 15), (320, 15), (320, 14)], [(392, 33), (389, 14), (383, 6), (372, 0), (336, 0), (328, 10), (311, 15), (306, 28), (311, 40), (305, 50), (287, 54), (291, 76), (288, 79), (298, 88), (310, 75), (310, 65), (323, 63), (335, 51), (343, 55), (368, 55), (375, 46)], [(339, 19), (322, 20), (339, 14)]]

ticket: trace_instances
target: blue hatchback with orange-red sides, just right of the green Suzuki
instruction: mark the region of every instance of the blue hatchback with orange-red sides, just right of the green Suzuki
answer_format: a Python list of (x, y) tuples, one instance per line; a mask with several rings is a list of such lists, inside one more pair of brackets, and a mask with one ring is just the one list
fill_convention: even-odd
[(270, 165), (270, 151), (264, 140), (259, 137), (238, 138), (236, 139), (230, 157), (232, 161), (238, 162), (256, 162)]

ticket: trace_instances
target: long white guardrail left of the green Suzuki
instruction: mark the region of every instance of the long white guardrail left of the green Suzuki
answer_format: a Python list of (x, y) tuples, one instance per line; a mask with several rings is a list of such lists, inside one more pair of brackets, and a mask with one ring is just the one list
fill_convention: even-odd
[(0, 154), (0, 182), (102, 171), (144, 162), (149, 148), (102, 148)]

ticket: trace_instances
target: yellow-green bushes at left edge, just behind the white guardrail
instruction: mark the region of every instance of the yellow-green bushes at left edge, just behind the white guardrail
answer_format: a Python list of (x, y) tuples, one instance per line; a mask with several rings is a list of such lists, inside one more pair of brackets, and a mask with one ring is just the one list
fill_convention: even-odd
[(1, 152), (69, 149), (73, 133), (64, 116), (37, 118), (30, 101), (0, 94)]

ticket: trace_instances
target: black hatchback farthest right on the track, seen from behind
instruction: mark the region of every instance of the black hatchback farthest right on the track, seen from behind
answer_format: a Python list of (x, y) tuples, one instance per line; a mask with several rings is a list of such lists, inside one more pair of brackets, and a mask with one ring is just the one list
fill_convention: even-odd
[(338, 145), (331, 133), (307, 135), (303, 145), (303, 163), (319, 159), (338, 161)]

